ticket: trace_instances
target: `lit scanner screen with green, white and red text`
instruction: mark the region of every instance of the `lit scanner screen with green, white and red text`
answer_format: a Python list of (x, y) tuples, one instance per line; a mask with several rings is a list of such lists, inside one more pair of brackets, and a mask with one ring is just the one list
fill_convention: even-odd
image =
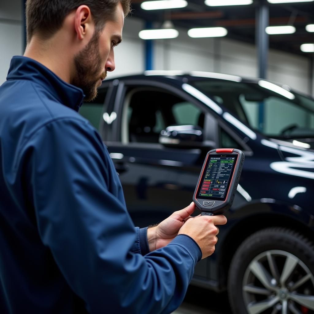
[(210, 157), (199, 196), (224, 198), (235, 157)]

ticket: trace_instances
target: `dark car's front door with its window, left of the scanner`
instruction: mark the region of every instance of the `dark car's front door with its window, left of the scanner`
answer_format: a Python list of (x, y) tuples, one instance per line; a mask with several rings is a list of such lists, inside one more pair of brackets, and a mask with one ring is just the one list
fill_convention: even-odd
[(186, 207), (206, 149), (158, 143), (169, 125), (202, 123), (204, 109), (179, 90), (157, 82), (125, 82), (116, 102), (116, 138), (106, 141), (123, 186), (128, 211), (140, 227)]

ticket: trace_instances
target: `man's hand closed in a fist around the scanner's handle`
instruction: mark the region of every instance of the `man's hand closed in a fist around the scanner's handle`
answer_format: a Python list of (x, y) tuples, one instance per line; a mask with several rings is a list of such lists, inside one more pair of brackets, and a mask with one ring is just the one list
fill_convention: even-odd
[(227, 218), (224, 215), (198, 216), (187, 220), (180, 229), (179, 234), (190, 236), (198, 244), (203, 259), (212, 255), (215, 251), (219, 233), (216, 225), (225, 225), (226, 223)]

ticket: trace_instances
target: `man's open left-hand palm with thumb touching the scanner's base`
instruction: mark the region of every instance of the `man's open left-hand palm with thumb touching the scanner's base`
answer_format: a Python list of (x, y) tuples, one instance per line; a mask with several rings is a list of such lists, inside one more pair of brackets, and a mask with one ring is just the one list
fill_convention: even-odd
[(190, 215), (195, 210), (192, 202), (186, 208), (174, 212), (170, 217), (163, 220), (159, 225), (147, 229), (149, 250), (152, 252), (160, 247), (166, 246), (178, 234), (185, 222), (192, 218)]

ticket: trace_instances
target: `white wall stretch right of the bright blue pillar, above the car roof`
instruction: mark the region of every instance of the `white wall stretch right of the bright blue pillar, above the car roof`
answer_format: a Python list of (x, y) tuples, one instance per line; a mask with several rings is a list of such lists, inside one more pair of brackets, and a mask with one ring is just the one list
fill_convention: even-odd
[[(227, 38), (195, 39), (179, 29), (174, 40), (155, 41), (154, 68), (196, 70), (257, 77), (257, 51), (254, 45)], [(268, 79), (288, 84), (304, 93), (310, 92), (308, 58), (270, 50)]]

